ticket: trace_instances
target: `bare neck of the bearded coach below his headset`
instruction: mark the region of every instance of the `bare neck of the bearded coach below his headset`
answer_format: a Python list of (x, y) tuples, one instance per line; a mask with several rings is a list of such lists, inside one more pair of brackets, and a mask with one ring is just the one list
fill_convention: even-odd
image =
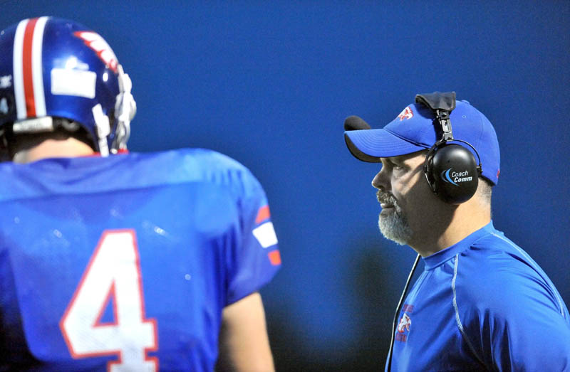
[[(438, 218), (440, 225), (430, 224), (410, 242), (410, 247), (422, 257), (444, 250), (491, 222), (491, 207), (472, 198), (457, 206), (449, 219)], [(421, 235), (421, 236), (420, 236)]]

